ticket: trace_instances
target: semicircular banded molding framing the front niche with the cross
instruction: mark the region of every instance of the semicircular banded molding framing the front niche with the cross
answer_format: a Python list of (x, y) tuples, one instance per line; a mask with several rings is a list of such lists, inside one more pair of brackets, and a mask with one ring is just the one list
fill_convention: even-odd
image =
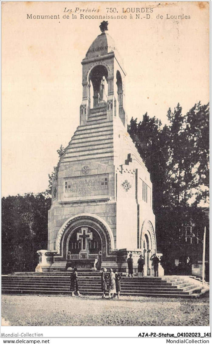
[(83, 213), (70, 217), (62, 227), (60, 227), (56, 238), (57, 254), (66, 257), (66, 244), (72, 232), (78, 227), (89, 226), (96, 230), (102, 240), (102, 256), (107, 256), (114, 249), (114, 239), (111, 228), (97, 215)]

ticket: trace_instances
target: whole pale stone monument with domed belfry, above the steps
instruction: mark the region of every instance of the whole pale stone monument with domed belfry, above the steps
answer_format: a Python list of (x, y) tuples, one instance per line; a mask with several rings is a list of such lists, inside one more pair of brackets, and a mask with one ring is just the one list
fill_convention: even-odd
[[(156, 252), (152, 183), (127, 133), (125, 71), (107, 31), (82, 60), (80, 125), (60, 159), (48, 214), (48, 250), (40, 250), (36, 271), (66, 266), (136, 272), (144, 254), (145, 275), (154, 274)], [(131, 114), (134, 116), (134, 114)], [(68, 263), (68, 264), (67, 264)]]

